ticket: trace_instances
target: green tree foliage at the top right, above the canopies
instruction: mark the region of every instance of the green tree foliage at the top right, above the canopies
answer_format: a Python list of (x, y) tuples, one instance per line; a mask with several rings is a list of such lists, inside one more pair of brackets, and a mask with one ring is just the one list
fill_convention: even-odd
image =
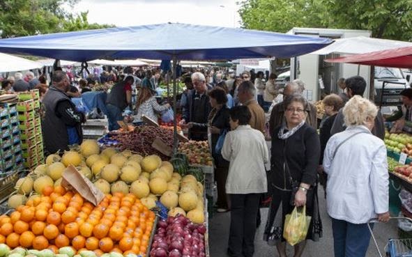
[(247, 29), (368, 29), (375, 38), (412, 40), (411, 0), (245, 0), (239, 13)]

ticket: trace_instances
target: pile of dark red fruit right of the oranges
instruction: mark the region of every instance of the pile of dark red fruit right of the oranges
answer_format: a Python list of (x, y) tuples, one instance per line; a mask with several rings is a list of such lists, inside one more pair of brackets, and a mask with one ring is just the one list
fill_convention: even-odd
[(190, 222), (183, 215), (158, 221), (151, 257), (204, 257), (206, 227)]

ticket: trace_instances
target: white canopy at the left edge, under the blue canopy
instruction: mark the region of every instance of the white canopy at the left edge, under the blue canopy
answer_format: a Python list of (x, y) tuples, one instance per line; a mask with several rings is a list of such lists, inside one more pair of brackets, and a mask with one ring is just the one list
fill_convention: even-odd
[(43, 64), (10, 54), (0, 53), (0, 72), (40, 69)]

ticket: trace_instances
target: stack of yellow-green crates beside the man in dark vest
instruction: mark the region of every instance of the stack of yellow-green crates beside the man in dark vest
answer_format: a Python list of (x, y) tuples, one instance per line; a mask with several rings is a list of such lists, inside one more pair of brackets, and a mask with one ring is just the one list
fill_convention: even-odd
[(18, 120), (22, 140), (22, 155), (26, 169), (33, 169), (45, 161), (40, 123), (40, 95), (37, 89), (19, 93)]

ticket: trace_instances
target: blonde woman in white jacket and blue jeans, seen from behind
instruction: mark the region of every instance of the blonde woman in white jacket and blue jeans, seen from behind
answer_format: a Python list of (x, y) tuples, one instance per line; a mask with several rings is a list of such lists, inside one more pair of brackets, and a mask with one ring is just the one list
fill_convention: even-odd
[(335, 257), (363, 257), (369, 246), (369, 219), (389, 219), (386, 146), (371, 130), (377, 108), (358, 95), (346, 103), (344, 132), (331, 137), (323, 157), (328, 173), (328, 214)]

